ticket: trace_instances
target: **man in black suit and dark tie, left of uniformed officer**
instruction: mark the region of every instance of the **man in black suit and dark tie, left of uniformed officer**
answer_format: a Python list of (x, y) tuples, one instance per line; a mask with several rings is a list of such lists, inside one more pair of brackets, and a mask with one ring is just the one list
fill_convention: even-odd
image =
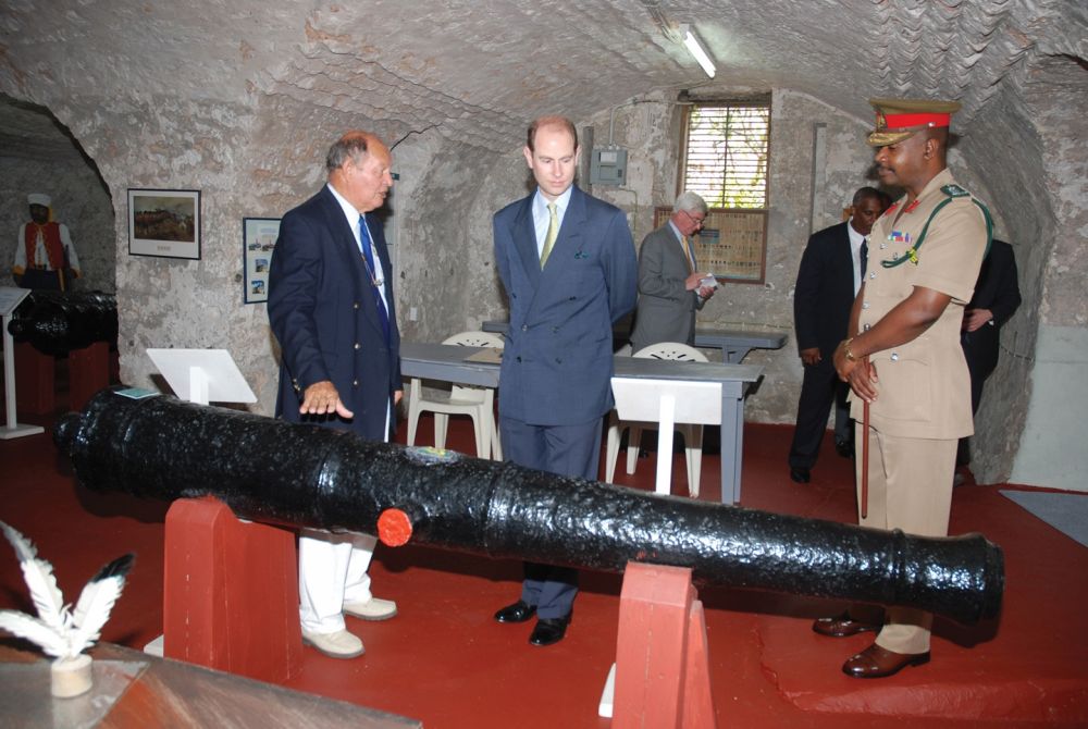
[(862, 261), (867, 255), (865, 238), (890, 201), (880, 190), (862, 187), (854, 193), (850, 220), (814, 233), (801, 257), (793, 322), (804, 380), (790, 445), (790, 478), (798, 483), (812, 478), (832, 403), (836, 449), (846, 458), (853, 453), (854, 429), (846, 406), (850, 387), (839, 380), (831, 355), (846, 338), (850, 307), (862, 284)]

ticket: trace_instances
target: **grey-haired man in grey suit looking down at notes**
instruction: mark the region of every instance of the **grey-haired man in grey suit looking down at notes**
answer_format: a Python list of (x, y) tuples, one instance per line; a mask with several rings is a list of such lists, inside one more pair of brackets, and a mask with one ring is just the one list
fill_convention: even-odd
[(714, 295), (703, 285), (708, 273), (696, 269), (691, 236), (703, 227), (706, 201), (681, 193), (665, 225), (651, 232), (639, 249), (639, 310), (631, 348), (639, 351), (658, 342), (695, 344), (695, 311)]

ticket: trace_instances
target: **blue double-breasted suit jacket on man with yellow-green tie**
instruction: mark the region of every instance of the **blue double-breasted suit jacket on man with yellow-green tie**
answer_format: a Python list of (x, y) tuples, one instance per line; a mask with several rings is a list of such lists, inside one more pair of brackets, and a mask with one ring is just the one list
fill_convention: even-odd
[(623, 211), (574, 187), (541, 270), (535, 194), (494, 218), (510, 305), (498, 411), (533, 425), (588, 423), (613, 406), (613, 323), (634, 307), (634, 242)]

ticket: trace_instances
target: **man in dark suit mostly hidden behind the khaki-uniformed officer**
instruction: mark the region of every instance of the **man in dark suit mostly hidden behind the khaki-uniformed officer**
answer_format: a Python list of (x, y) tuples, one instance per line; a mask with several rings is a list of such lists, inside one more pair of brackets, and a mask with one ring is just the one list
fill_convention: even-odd
[[(982, 384), (998, 366), (1001, 346), (1001, 326), (1009, 321), (1021, 305), (1019, 284), (1016, 276), (1016, 256), (1004, 240), (992, 240), (990, 252), (982, 259), (982, 269), (975, 284), (975, 295), (964, 310), (960, 344), (970, 372), (970, 413), (978, 412), (982, 401)], [(960, 438), (956, 466), (970, 462), (970, 438)], [(955, 474), (955, 483), (963, 482), (963, 474)]]

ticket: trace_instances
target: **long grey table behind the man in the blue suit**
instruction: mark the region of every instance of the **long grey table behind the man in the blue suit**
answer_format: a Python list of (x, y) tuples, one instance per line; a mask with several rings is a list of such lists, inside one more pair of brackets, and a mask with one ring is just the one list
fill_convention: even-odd
[[(401, 342), (400, 373), (406, 378), (498, 387), (497, 363), (466, 361), (478, 351), (479, 347)], [(721, 502), (738, 503), (744, 445), (744, 395), (762, 376), (763, 368), (636, 357), (615, 357), (614, 368), (616, 376), (620, 378), (721, 383)]]

